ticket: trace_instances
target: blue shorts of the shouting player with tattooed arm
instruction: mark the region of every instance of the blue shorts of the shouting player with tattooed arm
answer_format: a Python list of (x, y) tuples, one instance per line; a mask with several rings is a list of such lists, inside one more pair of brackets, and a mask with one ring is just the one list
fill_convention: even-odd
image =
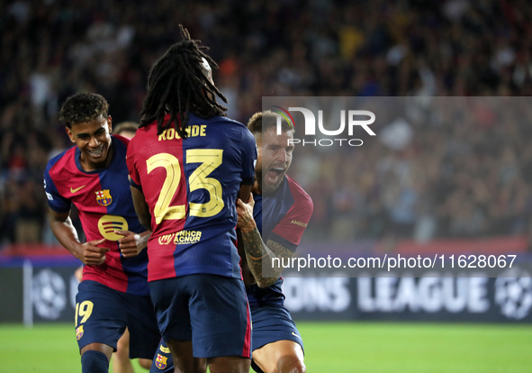
[[(303, 348), (303, 340), (290, 311), (284, 305), (266, 305), (251, 308), (253, 320), (253, 350), (275, 341), (294, 341)], [(303, 350), (304, 351), (304, 350)]]

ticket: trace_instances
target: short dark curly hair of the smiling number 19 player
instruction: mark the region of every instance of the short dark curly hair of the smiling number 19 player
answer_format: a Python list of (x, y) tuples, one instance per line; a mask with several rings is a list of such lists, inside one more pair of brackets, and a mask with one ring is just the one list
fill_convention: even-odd
[(100, 115), (107, 118), (108, 113), (104, 96), (84, 92), (67, 98), (59, 111), (59, 121), (72, 128), (72, 124), (90, 122)]

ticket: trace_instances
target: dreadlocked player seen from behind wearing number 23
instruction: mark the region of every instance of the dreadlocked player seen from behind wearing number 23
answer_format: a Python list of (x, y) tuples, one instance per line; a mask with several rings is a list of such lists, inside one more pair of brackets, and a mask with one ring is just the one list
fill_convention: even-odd
[[(251, 322), (236, 247), (237, 196), (248, 200), (257, 157), (246, 126), (225, 116), (199, 41), (182, 41), (149, 72), (127, 163), (148, 242), (149, 287), (177, 371), (248, 372)], [(157, 368), (166, 366), (158, 355)], [(156, 370), (157, 371), (157, 370)]]

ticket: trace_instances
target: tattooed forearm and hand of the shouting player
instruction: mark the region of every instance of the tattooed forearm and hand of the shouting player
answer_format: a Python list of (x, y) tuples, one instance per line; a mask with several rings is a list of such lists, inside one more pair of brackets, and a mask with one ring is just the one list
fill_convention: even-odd
[[(248, 267), (257, 281), (257, 286), (270, 287), (281, 277), (281, 272), (284, 268), (280, 263), (282, 263), (284, 258), (292, 258), (294, 252), (278, 242), (268, 240), (265, 243), (262, 241), (260, 232), (257, 229), (257, 223), (253, 219), (254, 205), (255, 201), (252, 196), (248, 204), (244, 204), (240, 199), (237, 201), (238, 227), (241, 232)], [(279, 260), (274, 261), (274, 258)]]

